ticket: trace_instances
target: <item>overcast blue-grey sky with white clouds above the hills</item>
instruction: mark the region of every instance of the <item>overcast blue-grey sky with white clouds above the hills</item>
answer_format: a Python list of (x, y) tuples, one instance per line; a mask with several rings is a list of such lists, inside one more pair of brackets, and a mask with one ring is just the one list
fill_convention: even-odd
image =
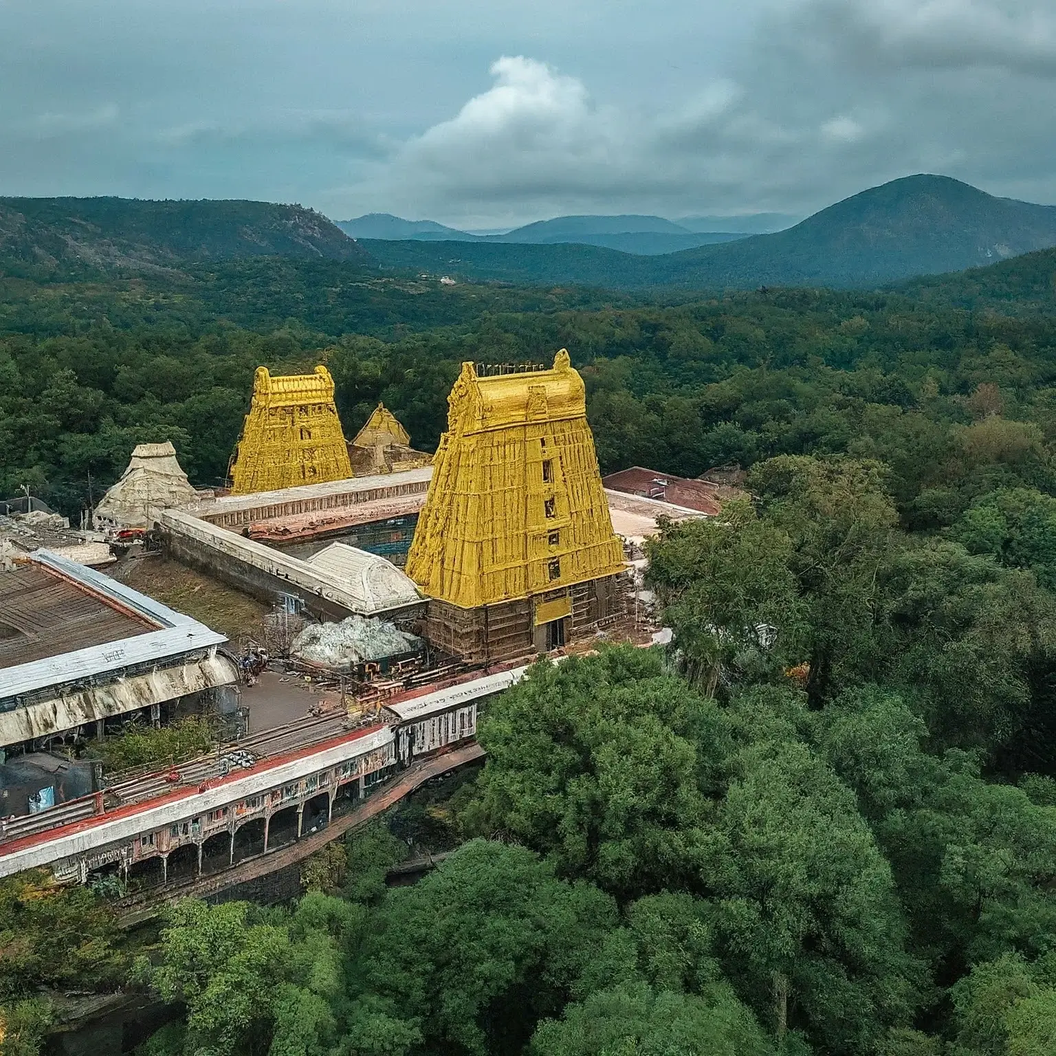
[(0, 194), (467, 227), (1056, 203), (1056, 0), (0, 0)]

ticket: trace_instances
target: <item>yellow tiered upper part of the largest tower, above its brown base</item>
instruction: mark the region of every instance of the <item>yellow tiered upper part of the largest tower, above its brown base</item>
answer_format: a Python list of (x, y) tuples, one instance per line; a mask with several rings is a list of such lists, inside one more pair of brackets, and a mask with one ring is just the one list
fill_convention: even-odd
[(426, 595), (476, 609), (568, 596), (624, 570), (583, 380), (564, 348), (550, 370), (480, 377), (463, 363), (448, 408), (407, 563)]

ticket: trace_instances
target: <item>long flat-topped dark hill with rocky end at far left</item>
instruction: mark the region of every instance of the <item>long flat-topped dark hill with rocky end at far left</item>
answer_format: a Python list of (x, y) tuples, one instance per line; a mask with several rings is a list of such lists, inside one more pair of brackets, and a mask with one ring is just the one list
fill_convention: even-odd
[(6, 274), (144, 270), (246, 257), (372, 263), (325, 216), (297, 205), (0, 197), (0, 269)]

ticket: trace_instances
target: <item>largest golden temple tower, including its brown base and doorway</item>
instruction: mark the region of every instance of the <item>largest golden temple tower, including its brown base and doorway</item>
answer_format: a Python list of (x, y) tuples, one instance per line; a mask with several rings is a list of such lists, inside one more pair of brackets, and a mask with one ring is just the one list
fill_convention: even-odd
[(490, 662), (626, 619), (623, 547), (565, 350), (551, 370), (482, 377), (463, 363), (433, 466), (407, 573), (436, 646)]

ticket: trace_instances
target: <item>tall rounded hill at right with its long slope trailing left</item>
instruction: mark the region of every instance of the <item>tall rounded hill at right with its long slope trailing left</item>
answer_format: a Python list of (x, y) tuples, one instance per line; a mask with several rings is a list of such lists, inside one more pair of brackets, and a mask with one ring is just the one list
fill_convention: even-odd
[[(948, 176), (894, 180), (809, 216), (795, 227), (638, 261), (570, 254), (568, 247), (479, 244), (458, 249), (458, 274), (512, 282), (750, 289), (872, 287), (918, 275), (985, 265), (1056, 245), (1056, 206), (995, 197)], [(448, 246), (449, 248), (442, 248)], [(425, 253), (372, 246), (383, 263), (415, 258), (421, 270), (452, 269), (450, 244)], [(432, 263), (430, 261), (432, 260)]]

